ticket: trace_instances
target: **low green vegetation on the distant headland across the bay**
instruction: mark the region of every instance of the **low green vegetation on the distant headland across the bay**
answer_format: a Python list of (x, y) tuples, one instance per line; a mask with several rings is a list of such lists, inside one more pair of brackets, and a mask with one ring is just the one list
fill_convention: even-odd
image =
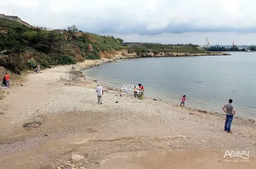
[(159, 43), (140, 43), (138, 47), (130, 47), (129, 53), (136, 52), (138, 54), (154, 52), (154, 54), (159, 54), (160, 52), (185, 52), (190, 54), (196, 53), (206, 53), (207, 51), (202, 50), (198, 45), (163, 45)]

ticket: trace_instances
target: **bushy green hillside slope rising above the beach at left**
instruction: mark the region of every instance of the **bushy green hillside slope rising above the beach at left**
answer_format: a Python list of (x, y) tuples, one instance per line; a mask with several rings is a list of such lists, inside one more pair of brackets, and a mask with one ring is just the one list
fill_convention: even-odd
[[(58, 64), (75, 64), (100, 59), (100, 52), (113, 53), (124, 48), (122, 39), (99, 36), (67, 27), (63, 33), (42, 31), (19, 22), (0, 18), (0, 66), (13, 73)], [(91, 47), (91, 48), (90, 48)]]

